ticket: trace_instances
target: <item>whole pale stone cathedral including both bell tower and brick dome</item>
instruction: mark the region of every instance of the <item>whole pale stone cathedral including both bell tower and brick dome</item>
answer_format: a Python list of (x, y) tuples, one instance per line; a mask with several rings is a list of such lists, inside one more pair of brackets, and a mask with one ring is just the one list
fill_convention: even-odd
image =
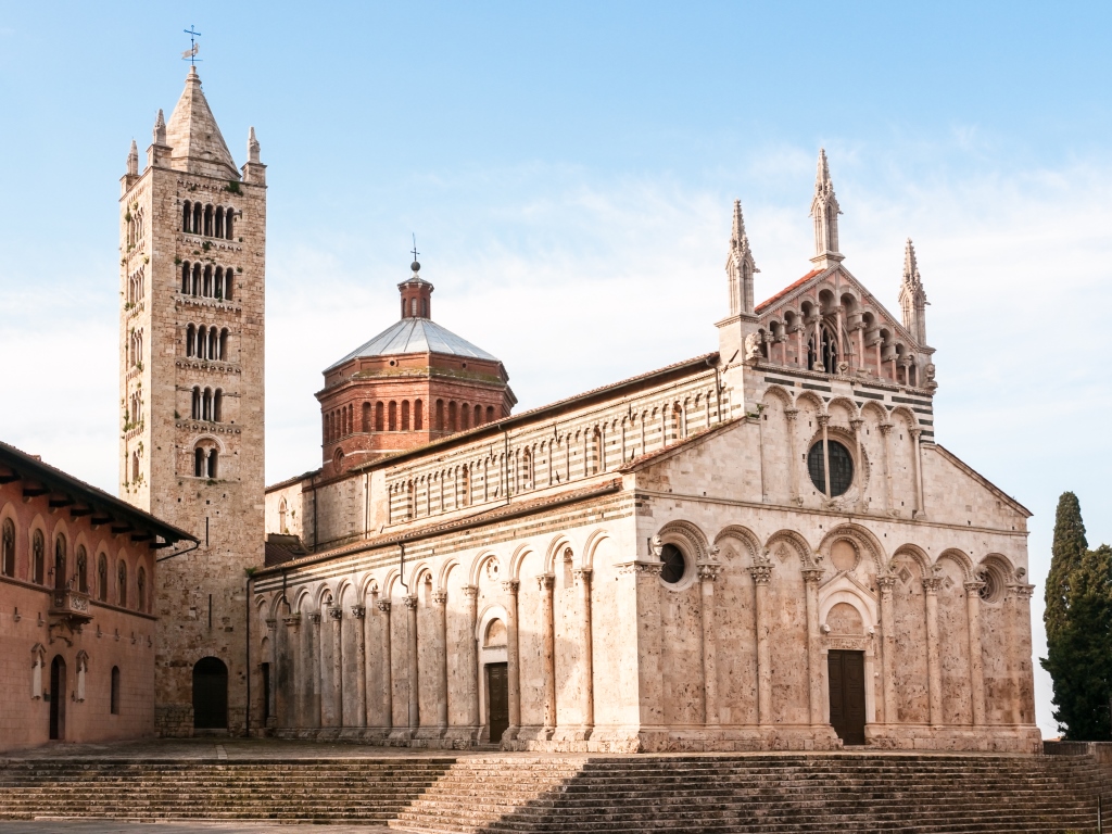
[(520, 414), (414, 261), (322, 371), (319, 469), (265, 487), (266, 167), (191, 69), (120, 198), (121, 497), (198, 542), (157, 732), (1036, 752), (1030, 513), (935, 439), (911, 240), (896, 316), (840, 215), (821, 152), (810, 264), (755, 304), (735, 202), (716, 345)]

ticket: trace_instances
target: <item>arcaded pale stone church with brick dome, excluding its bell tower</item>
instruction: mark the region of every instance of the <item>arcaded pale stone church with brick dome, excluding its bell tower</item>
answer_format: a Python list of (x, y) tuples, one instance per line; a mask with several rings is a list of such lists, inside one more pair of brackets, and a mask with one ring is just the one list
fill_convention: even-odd
[[(755, 305), (735, 205), (717, 351), (543, 408), (509, 416), (470, 355), (504, 391), (480, 421), (431, 339), (327, 369), (324, 466), (267, 492), (296, 557), (255, 575), (255, 714), (438, 747), (1036, 751), (1030, 514), (935, 441), (911, 241), (897, 319), (840, 214), (821, 155), (812, 268)], [(433, 399), (471, 421), (426, 428)]]

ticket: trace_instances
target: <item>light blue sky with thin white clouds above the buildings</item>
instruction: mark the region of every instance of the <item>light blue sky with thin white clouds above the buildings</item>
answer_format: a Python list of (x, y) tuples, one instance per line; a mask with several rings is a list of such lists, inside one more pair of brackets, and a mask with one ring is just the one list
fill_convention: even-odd
[[(939, 441), (1112, 542), (1112, 107), (1098, 3), (8, 3), (0, 436), (116, 492), (118, 179), (188, 48), (269, 165), (267, 477), (319, 464), (320, 370), (435, 315), (520, 408), (716, 347), (729, 206), (765, 297), (807, 271), (820, 146), (846, 266), (895, 308), (914, 238)], [(1043, 651), (1036, 645), (1036, 653)], [(1053, 734), (1046, 679), (1039, 718)]]

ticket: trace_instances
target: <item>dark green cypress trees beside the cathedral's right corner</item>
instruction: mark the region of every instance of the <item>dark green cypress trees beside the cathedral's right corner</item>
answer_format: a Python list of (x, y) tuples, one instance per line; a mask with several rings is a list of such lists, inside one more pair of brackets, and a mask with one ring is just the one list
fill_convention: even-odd
[(1112, 548), (1090, 550), (1081, 507), (1062, 495), (1046, 579), (1046, 657), (1054, 719), (1072, 741), (1112, 738)]

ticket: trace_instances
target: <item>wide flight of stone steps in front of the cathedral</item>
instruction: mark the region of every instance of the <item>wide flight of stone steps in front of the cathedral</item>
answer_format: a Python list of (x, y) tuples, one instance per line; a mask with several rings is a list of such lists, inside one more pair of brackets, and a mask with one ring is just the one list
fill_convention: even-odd
[[(270, 820), (419, 832), (1095, 832), (1090, 756), (459, 755), (0, 765), (0, 818)], [(1110, 827), (1112, 830), (1112, 827)]]

